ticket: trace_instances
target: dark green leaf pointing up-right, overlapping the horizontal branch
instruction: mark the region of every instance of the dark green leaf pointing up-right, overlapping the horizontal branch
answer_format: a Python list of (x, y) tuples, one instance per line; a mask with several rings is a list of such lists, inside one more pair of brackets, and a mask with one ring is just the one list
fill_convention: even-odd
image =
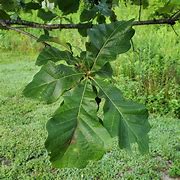
[(90, 43), (86, 49), (92, 70), (100, 69), (106, 62), (115, 60), (118, 54), (130, 49), (130, 40), (135, 32), (131, 26), (132, 20), (101, 24), (88, 30)]

